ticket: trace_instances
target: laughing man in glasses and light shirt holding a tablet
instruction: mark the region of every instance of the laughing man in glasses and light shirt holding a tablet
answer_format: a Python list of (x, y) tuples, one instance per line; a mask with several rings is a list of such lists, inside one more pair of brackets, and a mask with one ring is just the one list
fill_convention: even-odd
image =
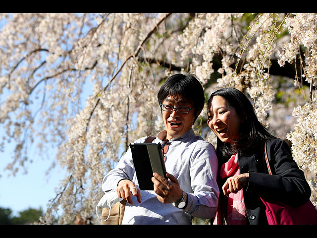
[(191, 224), (191, 216), (210, 219), (218, 204), (217, 158), (213, 145), (192, 129), (205, 104), (203, 88), (194, 75), (176, 74), (163, 83), (158, 101), (165, 130), (153, 143), (168, 146), (167, 179), (154, 174), (154, 190), (140, 190), (129, 149), (104, 178), (103, 190), (116, 191), (127, 200), (122, 224)]

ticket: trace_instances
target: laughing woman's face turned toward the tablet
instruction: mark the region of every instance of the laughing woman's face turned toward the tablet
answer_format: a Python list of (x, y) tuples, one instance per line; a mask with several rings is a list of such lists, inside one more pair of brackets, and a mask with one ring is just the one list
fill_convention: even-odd
[(239, 138), (241, 117), (221, 96), (214, 96), (208, 105), (208, 126), (222, 141), (232, 143)]

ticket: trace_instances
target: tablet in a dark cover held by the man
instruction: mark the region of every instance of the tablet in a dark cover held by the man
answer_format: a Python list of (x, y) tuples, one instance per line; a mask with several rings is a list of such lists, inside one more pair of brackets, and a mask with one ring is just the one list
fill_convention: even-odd
[(131, 143), (130, 148), (140, 189), (154, 190), (153, 173), (166, 178), (161, 144)]

